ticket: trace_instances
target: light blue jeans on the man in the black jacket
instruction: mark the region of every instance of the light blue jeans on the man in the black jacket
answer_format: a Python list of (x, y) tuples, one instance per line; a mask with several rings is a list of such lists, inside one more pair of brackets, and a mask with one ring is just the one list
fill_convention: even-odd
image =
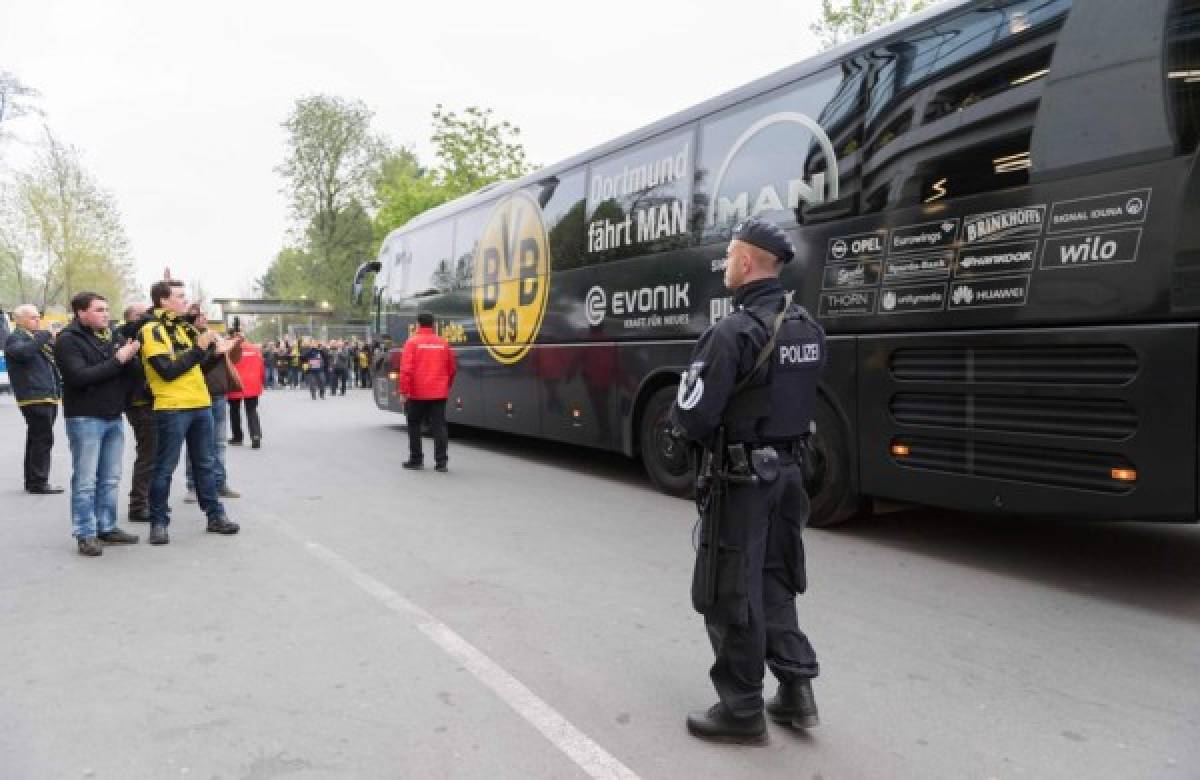
[[(121, 418), (67, 418), (71, 444), (71, 524), (76, 539), (116, 528), (125, 428)], [(98, 529), (97, 529), (98, 526)]]

